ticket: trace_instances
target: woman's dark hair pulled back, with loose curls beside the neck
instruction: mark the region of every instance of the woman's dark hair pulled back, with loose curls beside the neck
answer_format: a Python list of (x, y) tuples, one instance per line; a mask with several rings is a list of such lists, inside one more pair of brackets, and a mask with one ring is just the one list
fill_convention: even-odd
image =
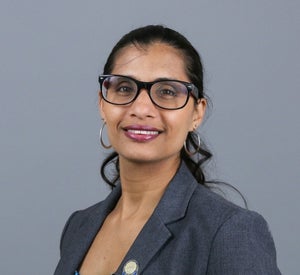
[[(204, 98), (203, 92), (203, 66), (197, 50), (180, 33), (162, 25), (148, 25), (135, 29), (124, 35), (112, 49), (104, 66), (103, 74), (110, 74), (113, 71), (115, 60), (120, 51), (127, 46), (147, 47), (153, 43), (165, 43), (178, 49), (184, 57), (186, 74), (190, 81), (198, 88), (199, 98)], [(206, 177), (203, 171), (203, 163), (212, 157), (206, 146), (198, 140), (194, 132), (189, 132), (186, 139), (186, 147), (196, 154), (190, 156), (184, 147), (181, 149), (180, 157), (194, 175), (198, 183), (207, 186)], [(108, 169), (113, 165), (114, 172)], [(114, 187), (119, 180), (119, 158), (116, 152), (111, 153), (102, 163), (101, 176), (111, 187)]]

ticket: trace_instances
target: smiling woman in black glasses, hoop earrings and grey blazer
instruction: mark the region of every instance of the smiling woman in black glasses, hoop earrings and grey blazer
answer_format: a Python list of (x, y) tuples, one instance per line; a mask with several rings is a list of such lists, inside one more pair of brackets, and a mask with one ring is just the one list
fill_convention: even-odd
[(205, 180), (211, 155), (196, 129), (207, 102), (189, 41), (163, 26), (133, 30), (99, 82), (101, 143), (114, 150), (101, 173), (113, 190), (69, 218), (55, 275), (280, 274), (264, 219)]

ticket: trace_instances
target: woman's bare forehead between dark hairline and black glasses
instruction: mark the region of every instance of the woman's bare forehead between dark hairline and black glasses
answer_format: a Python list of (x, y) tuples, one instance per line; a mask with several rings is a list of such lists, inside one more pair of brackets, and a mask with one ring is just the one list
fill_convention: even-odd
[(130, 45), (116, 55), (113, 74), (130, 75), (144, 81), (159, 77), (189, 81), (183, 53), (165, 43)]

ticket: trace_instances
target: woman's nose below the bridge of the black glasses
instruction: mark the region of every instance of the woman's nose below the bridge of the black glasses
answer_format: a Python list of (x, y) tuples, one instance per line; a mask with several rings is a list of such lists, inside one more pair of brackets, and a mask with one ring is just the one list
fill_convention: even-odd
[(156, 107), (151, 101), (148, 91), (142, 88), (135, 101), (130, 105), (130, 114), (143, 118), (154, 117), (155, 112)]

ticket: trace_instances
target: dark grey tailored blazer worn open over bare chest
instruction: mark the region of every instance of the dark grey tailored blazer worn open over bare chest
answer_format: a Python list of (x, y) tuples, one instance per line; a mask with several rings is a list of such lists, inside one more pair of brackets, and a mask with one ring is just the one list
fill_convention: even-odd
[[(121, 195), (120, 185), (102, 202), (75, 212), (62, 233), (54, 275), (74, 275), (103, 221)], [(185, 164), (114, 274), (134, 260), (138, 274), (281, 274), (267, 223), (199, 185)]]

